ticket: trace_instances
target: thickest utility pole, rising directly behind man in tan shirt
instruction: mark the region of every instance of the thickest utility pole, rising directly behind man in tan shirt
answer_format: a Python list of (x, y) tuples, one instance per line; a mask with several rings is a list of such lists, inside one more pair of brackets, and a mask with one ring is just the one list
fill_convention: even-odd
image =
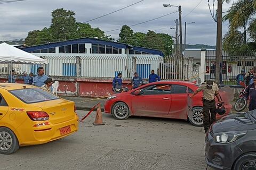
[(222, 82), (222, 0), (218, 0), (215, 81)]

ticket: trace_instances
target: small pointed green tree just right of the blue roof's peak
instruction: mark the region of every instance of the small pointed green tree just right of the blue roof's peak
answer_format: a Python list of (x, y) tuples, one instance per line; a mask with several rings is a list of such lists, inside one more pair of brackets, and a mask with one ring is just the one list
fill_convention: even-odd
[(134, 45), (133, 30), (129, 26), (123, 25), (117, 42)]

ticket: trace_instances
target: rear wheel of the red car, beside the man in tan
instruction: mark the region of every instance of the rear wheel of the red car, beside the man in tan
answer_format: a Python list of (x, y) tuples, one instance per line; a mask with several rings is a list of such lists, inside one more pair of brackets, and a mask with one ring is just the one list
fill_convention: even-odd
[(203, 107), (194, 107), (192, 116), (188, 117), (189, 122), (194, 126), (203, 126)]

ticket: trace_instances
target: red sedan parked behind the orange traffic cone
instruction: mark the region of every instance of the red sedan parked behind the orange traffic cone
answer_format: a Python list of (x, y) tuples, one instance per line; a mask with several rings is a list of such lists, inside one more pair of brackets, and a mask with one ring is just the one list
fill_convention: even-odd
[[(192, 115), (188, 117), (188, 93), (192, 94), (197, 88), (196, 84), (185, 81), (145, 84), (137, 89), (109, 96), (105, 103), (105, 113), (112, 114), (118, 120), (125, 120), (133, 115), (166, 117), (189, 120), (195, 126), (202, 126), (202, 92), (189, 100)], [(225, 103), (225, 108), (227, 115), (232, 106)], [(222, 116), (217, 114), (217, 119)]]

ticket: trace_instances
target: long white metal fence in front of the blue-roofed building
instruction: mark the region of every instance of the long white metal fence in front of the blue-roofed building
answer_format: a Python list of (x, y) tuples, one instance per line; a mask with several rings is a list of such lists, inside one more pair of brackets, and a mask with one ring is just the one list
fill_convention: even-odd
[[(193, 70), (186, 57), (127, 54), (38, 55), (46, 59), (48, 64), (13, 64), (15, 74), (21, 75), (26, 71), (36, 75), (37, 68), (43, 66), (45, 74), (49, 76), (113, 78), (121, 72), (123, 78), (131, 78), (136, 71), (142, 79), (148, 79), (151, 70), (155, 70), (163, 80), (185, 80)], [(0, 66), (0, 74), (9, 74), (9, 64)]]

